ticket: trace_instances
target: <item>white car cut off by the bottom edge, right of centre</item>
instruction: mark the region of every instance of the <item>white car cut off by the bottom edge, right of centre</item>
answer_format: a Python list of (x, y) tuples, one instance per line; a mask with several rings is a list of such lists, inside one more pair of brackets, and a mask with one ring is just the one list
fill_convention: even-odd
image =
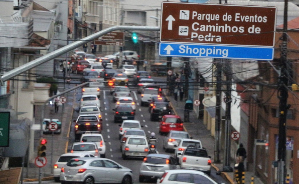
[(195, 171), (189, 169), (167, 170), (164, 172), (163, 176), (157, 180), (157, 184), (185, 184), (185, 183), (218, 184), (216, 181), (211, 179), (207, 174), (201, 171)]

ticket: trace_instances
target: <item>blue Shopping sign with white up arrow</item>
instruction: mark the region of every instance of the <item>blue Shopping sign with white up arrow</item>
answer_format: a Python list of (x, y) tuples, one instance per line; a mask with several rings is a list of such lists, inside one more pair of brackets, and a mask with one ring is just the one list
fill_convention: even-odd
[(159, 54), (161, 56), (196, 58), (273, 60), (274, 48), (160, 43)]

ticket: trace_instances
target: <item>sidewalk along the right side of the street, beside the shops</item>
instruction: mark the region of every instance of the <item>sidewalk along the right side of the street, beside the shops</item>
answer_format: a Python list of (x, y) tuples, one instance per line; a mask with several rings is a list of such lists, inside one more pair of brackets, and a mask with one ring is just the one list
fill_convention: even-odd
[[(176, 101), (174, 96), (167, 96), (168, 100), (173, 107), (174, 112), (184, 118), (184, 106), (185, 101)], [(207, 127), (203, 124), (203, 120), (197, 119), (196, 113), (190, 112), (190, 122), (185, 122), (184, 127), (186, 131), (193, 137), (193, 139), (199, 139), (202, 142), (202, 145), (208, 151), (208, 154), (211, 156), (211, 160), (214, 160), (214, 137), (211, 136), (210, 130), (207, 130)], [(220, 152), (220, 160), (223, 161), (223, 151)], [(231, 167), (234, 167), (234, 162), (231, 162)], [(213, 164), (213, 168), (218, 170), (222, 170), (223, 163)], [(221, 176), (227, 181), (227, 183), (234, 184), (234, 171), (233, 172), (221, 172)], [(251, 176), (253, 176), (253, 172), (245, 172), (245, 183), (251, 182)], [(264, 184), (260, 178), (256, 177), (254, 179), (254, 184)]]

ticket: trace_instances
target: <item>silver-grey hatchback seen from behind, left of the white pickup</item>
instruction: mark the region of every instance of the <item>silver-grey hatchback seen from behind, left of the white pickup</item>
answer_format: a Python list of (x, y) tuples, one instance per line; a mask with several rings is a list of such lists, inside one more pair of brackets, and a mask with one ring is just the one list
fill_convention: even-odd
[(179, 169), (176, 159), (168, 154), (148, 154), (141, 164), (139, 182), (161, 178), (166, 170)]

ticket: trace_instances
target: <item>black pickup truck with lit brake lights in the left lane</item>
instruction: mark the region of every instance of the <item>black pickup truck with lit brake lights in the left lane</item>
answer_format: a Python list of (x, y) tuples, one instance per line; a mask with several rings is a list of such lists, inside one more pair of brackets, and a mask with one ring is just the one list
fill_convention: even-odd
[(101, 133), (103, 129), (102, 121), (97, 115), (79, 115), (74, 122), (76, 123), (75, 140), (79, 140), (82, 134)]

